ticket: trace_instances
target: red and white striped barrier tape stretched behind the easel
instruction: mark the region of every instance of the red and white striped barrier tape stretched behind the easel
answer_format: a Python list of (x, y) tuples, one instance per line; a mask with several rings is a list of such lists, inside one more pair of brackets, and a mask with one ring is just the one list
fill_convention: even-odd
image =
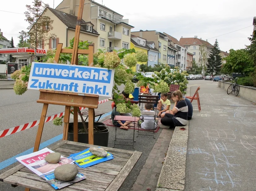
[[(98, 102), (98, 104), (103, 104), (103, 103), (109, 101), (109, 99), (112, 99), (112, 98), (108, 98), (108, 99), (106, 99), (106, 100), (101, 100), (101, 101)], [(82, 109), (85, 109), (85, 108), (80, 108), (80, 110), (82, 110)], [(64, 113), (65, 113), (65, 112), (61, 112), (61, 113), (59, 113), (59, 114), (55, 114), (55, 115), (53, 115), (53, 116), (46, 117), (45, 123), (48, 122), (48, 121), (54, 120), (56, 117), (61, 117), (61, 116), (63, 116)], [(28, 128), (35, 127), (35, 126), (39, 125), (39, 122), (40, 122), (40, 120), (36, 120), (36, 121), (30, 122), (30, 123), (26, 123), (26, 124), (19, 125), (19, 126), (10, 128), (10, 129), (5, 129), (5, 130), (3, 130), (3, 131), (0, 131), (0, 138), (1, 138), (1, 137), (4, 137), (4, 136), (7, 136), (7, 135), (14, 134), (14, 133), (16, 133), (16, 132), (23, 131), (23, 130), (28, 129)]]

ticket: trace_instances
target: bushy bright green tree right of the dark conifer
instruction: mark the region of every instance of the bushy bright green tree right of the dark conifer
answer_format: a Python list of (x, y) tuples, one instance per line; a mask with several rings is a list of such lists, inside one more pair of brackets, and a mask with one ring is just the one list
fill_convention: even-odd
[(223, 60), (226, 63), (223, 65), (222, 71), (227, 74), (241, 73), (248, 76), (250, 72), (254, 71), (253, 59), (246, 49), (233, 50), (230, 49), (229, 55)]

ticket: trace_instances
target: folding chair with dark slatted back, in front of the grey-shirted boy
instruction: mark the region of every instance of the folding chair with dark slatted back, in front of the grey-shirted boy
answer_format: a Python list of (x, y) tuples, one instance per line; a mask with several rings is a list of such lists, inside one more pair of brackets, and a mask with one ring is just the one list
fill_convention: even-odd
[[(152, 108), (153, 108), (155, 104), (156, 105), (158, 104), (158, 100), (159, 100), (158, 95), (139, 95), (139, 107), (141, 106), (141, 104), (144, 103), (144, 104), (152, 104)], [(157, 117), (156, 109), (155, 109), (155, 112), (143, 112), (142, 111), (141, 116), (142, 117), (150, 117), (150, 119), (147, 119), (147, 120), (154, 120), (154, 122), (155, 122), (156, 117)], [(153, 138), (155, 139), (154, 133), (155, 133), (155, 128), (153, 129)], [(138, 136), (139, 135), (152, 136), (152, 135), (146, 135), (146, 134), (139, 134), (139, 128), (138, 128)]]

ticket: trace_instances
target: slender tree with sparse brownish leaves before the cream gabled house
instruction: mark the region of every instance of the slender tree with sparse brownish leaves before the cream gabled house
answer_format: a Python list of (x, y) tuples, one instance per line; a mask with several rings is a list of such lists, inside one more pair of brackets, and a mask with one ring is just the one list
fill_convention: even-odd
[(44, 16), (48, 6), (48, 4), (43, 3), (41, 0), (34, 0), (33, 6), (26, 5), (27, 11), (25, 16), (26, 21), (29, 23), (28, 31), (22, 30), (19, 38), (28, 38), (27, 43), (30, 43), (30, 47), (35, 48), (35, 52), (38, 44), (42, 42), (48, 44), (49, 39), (56, 36), (49, 33), (53, 29), (53, 20), (48, 16)]

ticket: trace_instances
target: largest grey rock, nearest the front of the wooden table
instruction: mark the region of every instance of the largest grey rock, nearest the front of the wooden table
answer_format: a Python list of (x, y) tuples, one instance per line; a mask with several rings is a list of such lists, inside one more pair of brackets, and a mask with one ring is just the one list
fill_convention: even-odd
[(76, 177), (77, 173), (77, 166), (72, 164), (61, 165), (54, 170), (55, 178), (61, 181), (71, 181)]

